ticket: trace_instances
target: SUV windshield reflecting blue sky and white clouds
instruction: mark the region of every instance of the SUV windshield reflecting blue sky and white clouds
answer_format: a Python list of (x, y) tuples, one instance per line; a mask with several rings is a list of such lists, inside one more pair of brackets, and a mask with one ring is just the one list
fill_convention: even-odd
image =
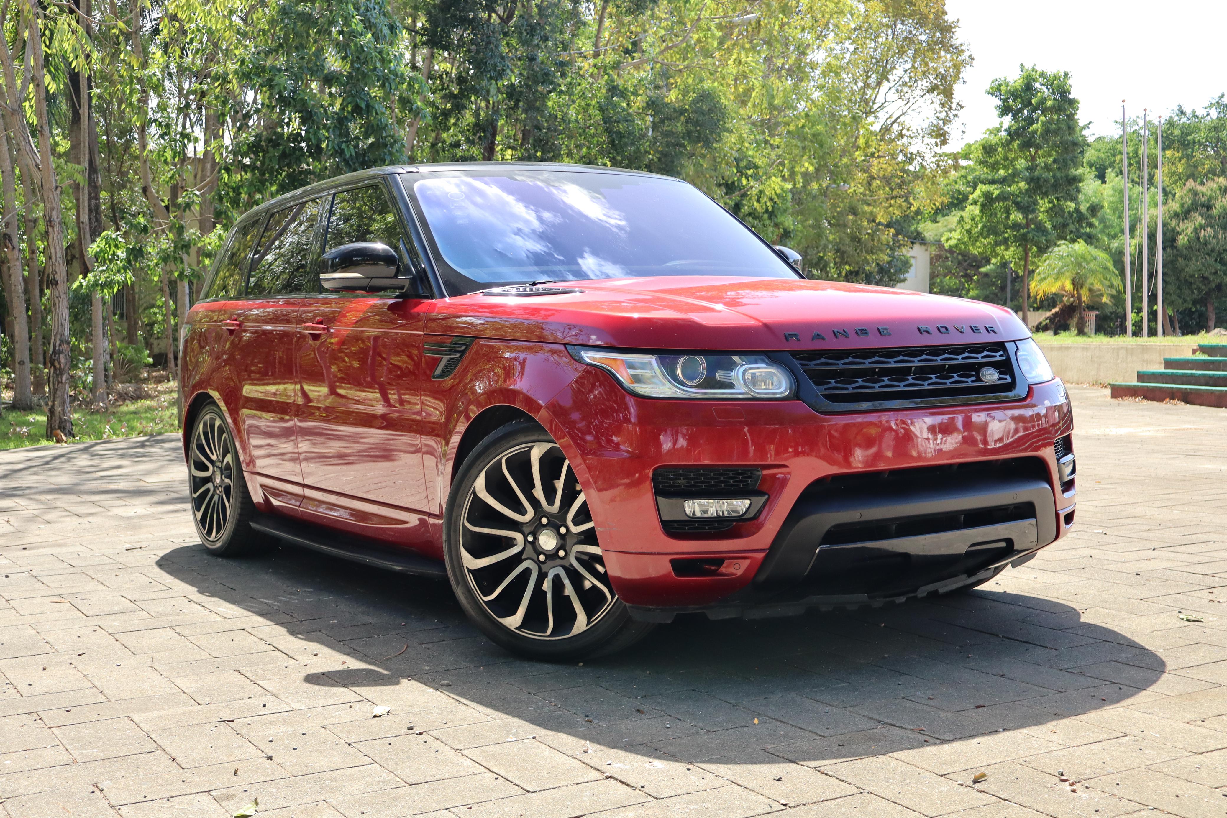
[(642, 276), (795, 278), (683, 182), (626, 173), (499, 170), (406, 177), (449, 289)]

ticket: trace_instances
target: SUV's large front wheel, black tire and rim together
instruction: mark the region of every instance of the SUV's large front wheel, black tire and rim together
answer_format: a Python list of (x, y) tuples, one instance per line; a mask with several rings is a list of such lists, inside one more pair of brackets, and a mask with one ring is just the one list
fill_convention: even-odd
[(512, 652), (584, 659), (628, 648), (652, 630), (617, 597), (583, 489), (536, 423), (496, 429), (460, 465), (443, 548), (460, 607)]

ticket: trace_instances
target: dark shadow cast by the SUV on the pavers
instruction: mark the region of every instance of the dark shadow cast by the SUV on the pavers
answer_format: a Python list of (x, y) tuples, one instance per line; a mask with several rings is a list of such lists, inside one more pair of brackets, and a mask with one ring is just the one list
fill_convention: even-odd
[(1166, 670), (1076, 608), (994, 583), (853, 612), (679, 619), (558, 665), (486, 640), (443, 581), (293, 547), (220, 559), (184, 546), (157, 567), (285, 629), (270, 649), (301, 661), (308, 686), (389, 704), (410, 730), (510, 717), (487, 741), (534, 735), (568, 752), (816, 765), (999, 731), (1042, 740), (1050, 722), (1147, 695)]

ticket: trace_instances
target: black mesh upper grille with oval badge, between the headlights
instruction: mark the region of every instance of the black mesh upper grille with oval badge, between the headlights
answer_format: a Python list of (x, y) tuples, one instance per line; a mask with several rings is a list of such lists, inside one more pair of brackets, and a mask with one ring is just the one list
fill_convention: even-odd
[(987, 400), (1007, 397), (1016, 388), (1004, 343), (794, 352), (793, 358), (820, 400), (834, 405)]

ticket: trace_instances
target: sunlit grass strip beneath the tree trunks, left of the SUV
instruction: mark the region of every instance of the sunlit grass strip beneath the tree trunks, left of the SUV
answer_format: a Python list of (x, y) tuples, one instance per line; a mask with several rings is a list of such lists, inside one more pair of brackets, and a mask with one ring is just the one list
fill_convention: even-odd
[[(115, 400), (106, 412), (76, 406), (72, 411), (71, 443), (134, 438), (142, 434), (178, 432), (175, 385), (171, 381), (145, 381), (142, 396)], [(7, 395), (5, 396), (9, 397)], [(5, 401), (7, 405), (7, 400)], [(0, 449), (20, 449), (52, 443), (47, 439), (47, 410), (0, 410)]]

